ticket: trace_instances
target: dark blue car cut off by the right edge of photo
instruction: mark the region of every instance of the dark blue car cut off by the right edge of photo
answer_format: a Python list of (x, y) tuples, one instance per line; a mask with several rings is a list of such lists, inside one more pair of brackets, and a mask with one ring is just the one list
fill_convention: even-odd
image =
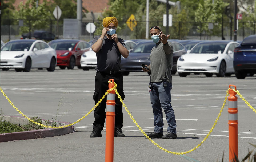
[(233, 66), (237, 79), (245, 79), (248, 73), (250, 76), (256, 73), (256, 35), (246, 37), (235, 48)]

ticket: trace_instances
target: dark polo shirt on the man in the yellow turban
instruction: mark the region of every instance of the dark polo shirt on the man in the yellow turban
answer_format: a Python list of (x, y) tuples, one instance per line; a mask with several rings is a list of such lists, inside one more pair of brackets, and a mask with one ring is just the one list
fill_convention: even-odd
[[(93, 38), (92, 44), (97, 42), (100, 36)], [(118, 41), (125, 47), (123, 39), (118, 38)], [(125, 47), (126, 48), (126, 47)], [(106, 36), (103, 39), (103, 44), (99, 52), (96, 53), (97, 67), (96, 71), (118, 71), (121, 70), (121, 53), (114, 40), (109, 40)]]

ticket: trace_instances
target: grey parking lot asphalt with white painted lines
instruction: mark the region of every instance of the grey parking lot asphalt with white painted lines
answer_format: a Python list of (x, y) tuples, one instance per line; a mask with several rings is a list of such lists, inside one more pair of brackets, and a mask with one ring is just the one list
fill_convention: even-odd
[[(34, 70), (30, 72), (0, 71), (0, 86), (13, 104), (27, 116), (41, 119), (74, 121), (94, 106), (95, 70), (81, 69)], [(256, 75), (237, 79), (231, 77), (205, 77), (173, 75), (171, 103), (177, 120), (177, 139), (153, 139), (161, 147), (184, 152), (197, 146), (211, 129), (225, 99), (229, 84), (237, 86), (243, 97), (256, 107)], [(124, 76), (124, 102), (145, 132), (154, 130), (153, 112), (149, 98), (149, 75), (131, 72)], [(21, 116), (1, 94), (1, 107), (5, 115)], [(208, 139), (195, 151), (186, 154), (197, 161), (228, 161), (228, 104)], [(157, 148), (138, 130), (123, 108), (125, 138), (114, 139), (114, 161), (189, 161), (180, 155), (166, 153)], [(165, 115), (163, 115), (165, 118)], [(238, 98), (238, 157), (242, 159), (256, 144), (256, 114)], [(1, 161), (105, 161), (105, 135), (89, 138), (94, 121), (93, 113), (78, 124), (76, 132), (42, 139), (16, 140), (0, 143)], [(164, 131), (167, 122), (164, 120)], [(105, 128), (105, 127), (104, 127)]]

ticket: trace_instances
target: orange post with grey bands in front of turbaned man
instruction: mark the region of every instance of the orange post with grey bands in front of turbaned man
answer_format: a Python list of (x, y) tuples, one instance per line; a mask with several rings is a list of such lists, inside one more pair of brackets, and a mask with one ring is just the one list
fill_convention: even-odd
[[(109, 89), (115, 86), (114, 79), (109, 79)], [(115, 131), (115, 90), (107, 94), (106, 102), (106, 151), (105, 162), (114, 160), (114, 131)]]

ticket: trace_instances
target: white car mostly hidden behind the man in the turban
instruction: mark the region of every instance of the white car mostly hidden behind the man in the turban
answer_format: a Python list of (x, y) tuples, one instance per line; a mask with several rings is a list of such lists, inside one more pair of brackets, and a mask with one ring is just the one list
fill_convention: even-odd
[[(137, 45), (135, 42), (131, 40), (124, 40), (126, 48), (131, 51), (133, 48)], [(91, 44), (91, 43), (90, 43)], [(81, 57), (81, 67), (83, 70), (89, 70), (96, 68), (97, 63), (96, 63), (96, 53), (93, 52), (93, 50), (90, 48), (89, 51), (85, 52), (82, 57)]]

